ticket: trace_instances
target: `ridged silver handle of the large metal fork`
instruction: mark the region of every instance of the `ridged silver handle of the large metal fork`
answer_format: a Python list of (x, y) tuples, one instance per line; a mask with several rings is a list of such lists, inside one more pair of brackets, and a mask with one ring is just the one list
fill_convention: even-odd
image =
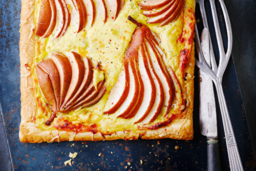
[(228, 159), (230, 164), (230, 170), (243, 170), (242, 161), (238, 152), (238, 146), (236, 142), (236, 138), (234, 137), (232, 124), (229, 118), (227, 104), (225, 100), (225, 96), (223, 93), (223, 88), (221, 83), (215, 83), (219, 104), (220, 104), (220, 110), (221, 110), (221, 116), (222, 116), (222, 122), (224, 126), (224, 132), (225, 132), (225, 139), (227, 144), (227, 153), (228, 153)]

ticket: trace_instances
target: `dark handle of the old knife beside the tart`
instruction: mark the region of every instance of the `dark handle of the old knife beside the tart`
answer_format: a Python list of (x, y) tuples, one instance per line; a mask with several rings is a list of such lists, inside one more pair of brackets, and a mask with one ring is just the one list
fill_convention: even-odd
[(219, 171), (221, 170), (221, 161), (218, 140), (208, 139), (207, 142), (207, 170)]

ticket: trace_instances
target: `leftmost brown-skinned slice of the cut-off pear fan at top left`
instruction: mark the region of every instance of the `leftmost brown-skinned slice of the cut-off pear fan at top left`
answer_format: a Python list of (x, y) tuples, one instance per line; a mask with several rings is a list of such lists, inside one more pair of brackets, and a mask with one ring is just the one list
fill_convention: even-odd
[(56, 5), (54, 0), (42, 0), (36, 35), (49, 37), (56, 24)]

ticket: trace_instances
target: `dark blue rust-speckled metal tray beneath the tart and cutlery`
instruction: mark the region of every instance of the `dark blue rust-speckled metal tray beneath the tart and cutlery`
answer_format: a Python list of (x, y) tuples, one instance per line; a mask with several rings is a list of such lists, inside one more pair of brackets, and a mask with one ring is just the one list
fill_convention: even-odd
[[(161, 139), (21, 143), (18, 138), (21, 1), (0, 2), (0, 170), (207, 170), (206, 137), (200, 134), (199, 129), (197, 72), (194, 98), (195, 134), (191, 141)], [(223, 76), (223, 88), (244, 169), (255, 170), (253, 144), (232, 56)], [(222, 170), (229, 170), (218, 104), (217, 113), (221, 167)], [(70, 159), (70, 152), (78, 153), (71, 161), (72, 166), (64, 164)]]

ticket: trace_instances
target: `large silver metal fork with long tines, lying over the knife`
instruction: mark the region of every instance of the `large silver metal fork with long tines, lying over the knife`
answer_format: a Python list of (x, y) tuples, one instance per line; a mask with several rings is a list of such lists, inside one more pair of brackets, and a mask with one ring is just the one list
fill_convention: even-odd
[[(204, 26), (204, 28), (207, 28), (209, 30), (204, 0), (196, 0), (196, 3), (198, 3), (199, 7), (200, 7), (201, 16), (202, 16), (202, 20), (203, 20), (203, 26)], [(234, 137), (234, 133), (233, 133), (233, 129), (232, 129), (232, 125), (231, 125), (231, 121), (230, 121), (229, 113), (228, 113), (228, 109), (227, 109), (227, 104), (226, 104), (226, 100), (225, 100), (225, 96), (224, 96), (223, 88), (222, 88), (222, 77), (223, 77), (224, 71), (227, 67), (227, 63), (228, 63), (229, 57), (231, 55), (231, 49), (232, 49), (231, 25), (230, 25), (230, 21), (229, 21), (229, 17), (228, 17), (228, 13), (227, 13), (225, 4), (224, 4), (223, 0), (219, 0), (220, 6), (221, 6), (221, 9), (223, 12), (223, 16), (225, 19), (227, 38), (228, 38), (228, 47), (227, 47), (227, 51), (225, 52), (223, 42), (222, 42), (222, 35), (221, 35), (220, 26), (219, 26), (219, 20), (218, 20), (218, 16), (217, 16), (215, 0), (209, 0), (209, 3), (210, 3), (212, 19), (213, 19), (213, 23), (214, 23), (214, 27), (215, 27), (217, 43), (218, 43), (218, 47), (219, 47), (219, 56), (220, 56), (219, 65), (217, 66), (210, 34), (209, 34), (209, 40), (210, 40), (211, 65), (208, 65), (207, 62), (205, 61), (203, 54), (202, 54), (202, 49), (201, 49), (201, 45), (200, 45), (200, 38), (199, 38), (197, 26), (195, 28), (195, 30), (196, 30), (195, 40), (196, 40), (196, 48), (197, 48), (199, 59), (196, 59), (196, 65), (201, 70), (203, 70), (215, 83), (215, 87), (216, 87), (217, 95), (218, 95), (218, 99), (219, 99), (219, 104), (220, 104), (223, 126), (224, 126), (230, 170), (243, 170), (243, 165), (242, 165), (241, 158), (239, 155), (236, 138)]]

